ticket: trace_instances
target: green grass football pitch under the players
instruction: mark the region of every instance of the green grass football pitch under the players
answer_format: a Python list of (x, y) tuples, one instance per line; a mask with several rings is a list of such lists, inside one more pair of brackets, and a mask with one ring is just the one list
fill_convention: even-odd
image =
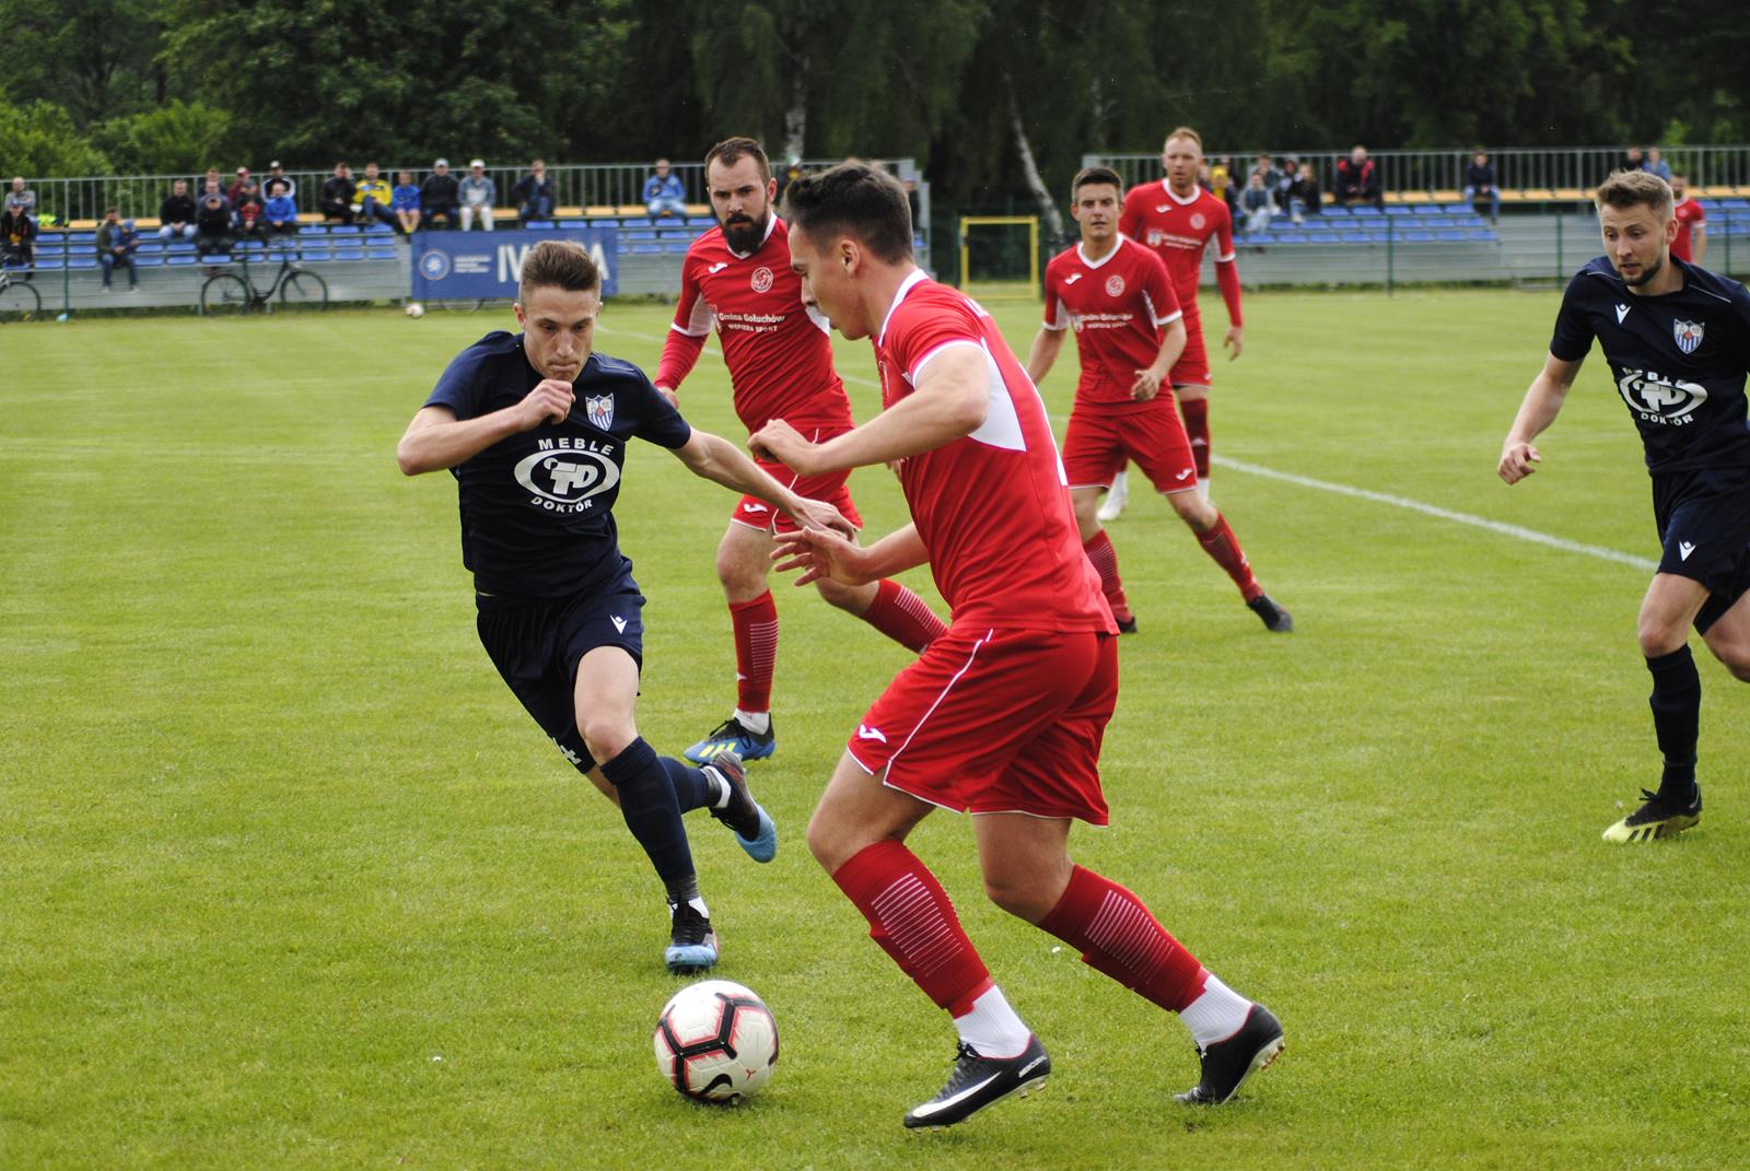
[[(1594, 355), (1544, 471), (1493, 467), (1550, 294), (1279, 294), (1218, 362), (1216, 452), (1654, 557)], [(1036, 308), (996, 310), (1026, 352)], [(1213, 310), (1220, 319), (1220, 308)], [(668, 310), (612, 305), (654, 364)], [(782, 1059), (682, 1101), (649, 1031), (662, 891), (472, 630), (455, 488), (392, 448), (508, 313), (5, 327), (0, 385), (0, 1164), (1717, 1167), (1750, 1124), (1750, 705), (1706, 688), (1699, 830), (1606, 847), (1656, 779), (1647, 572), (1216, 471), (1298, 632), (1267, 635), (1164, 502), (1111, 525), (1141, 635), (1106, 740), (1115, 823), (1074, 856), (1286, 1022), (1246, 1099), (1192, 1111), (1185, 1031), (1006, 919), (971, 826), (917, 852), (1052, 1050), (1043, 1096), (947, 1134), (948, 1022), (864, 936), (803, 826), (905, 653), (777, 586), (782, 831), (752, 866), (690, 817), (724, 945)], [(859, 417), (863, 343), (838, 343)], [(1074, 361), (1045, 387), (1068, 411)], [(740, 438), (721, 359), (682, 389)], [(1138, 487), (1141, 487), (1138, 483)], [(859, 471), (870, 532), (903, 520)], [(733, 497), (635, 445), (618, 508), (651, 602), (640, 726), (732, 705), (712, 550)], [(928, 576), (910, 583), (934, 599)], [(1699, 655), (1699, 651), (1698, 651)], [(1699, 655), (1706, 658), (1704, 655)], [(1736, 991), (1734, 991), (1736, 989)]]

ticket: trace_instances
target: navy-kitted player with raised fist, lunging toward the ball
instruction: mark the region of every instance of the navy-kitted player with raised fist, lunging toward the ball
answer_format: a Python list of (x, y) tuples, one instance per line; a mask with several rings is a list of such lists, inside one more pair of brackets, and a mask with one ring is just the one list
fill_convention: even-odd
[(630, 362), (593, 354), (600, 271), (576, 243), (542, 242), (523, 261), (522, 334), (490, 333), (450, 362), (413, 417), (401, 471), (448, 469), (462, 508), (462, 564), (474, 572), (480, 639), (541, 730), (620, 805), (663, 880), (672, 971), (718, 959), (681, 814), (707, 807), (754, 861), (777, 828), (733, 754), (705, 768), (658, 756), (634, 704), (644, 597), (620, 551), (614, 499), (634, 438), (672, 450), (695, 474), (842, 532), (830, 504), (803, 501), (738, 448), (693, 431)]

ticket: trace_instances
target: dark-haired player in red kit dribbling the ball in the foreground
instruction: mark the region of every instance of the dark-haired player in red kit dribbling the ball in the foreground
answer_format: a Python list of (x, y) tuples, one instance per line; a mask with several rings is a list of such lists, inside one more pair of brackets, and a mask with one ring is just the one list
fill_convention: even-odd
[(826, 443), (774, 418), (751, 445), (802, 476), (892, 464), (912, 523), (863, 548), (814, 527), (779, 543), (798, 581), (929, 564), (954, 618), (863, 716), (808, 847), (870, 935), (954, 1017), (959, 1052), (910, 1127), (950, 1125), (1050, 1071), (936, 877), (905, 838), (970, 810), (985, 893), (1192, 1029), (1186, 1103), (1220, 1103), (1281, 1050), (1262, 1005), (1216, 980), (1116, 882), (1069, 861), (1073, 819), (1106, 823), (1099, 746), (1118, 695), (1116, 627), (1082, 553), (1045, 404), (990, 317), (912, 263), (900, 184), (845, 163), (794, 180), (791, 264), (847, 338), (873, 338), (886, 410)]

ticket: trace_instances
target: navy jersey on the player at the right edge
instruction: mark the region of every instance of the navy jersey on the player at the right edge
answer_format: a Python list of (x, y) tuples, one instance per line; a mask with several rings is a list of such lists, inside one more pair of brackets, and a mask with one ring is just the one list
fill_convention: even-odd
[(1586, 357), (1598, 338), (1647, 448), (1647, 471), (1750, 467), (1745, 371), (1750, 292), (1736, 280), (1670, 261), (1684, 287), (1634, 296), (1608, 257), (1568, 282), (1549, 352)]

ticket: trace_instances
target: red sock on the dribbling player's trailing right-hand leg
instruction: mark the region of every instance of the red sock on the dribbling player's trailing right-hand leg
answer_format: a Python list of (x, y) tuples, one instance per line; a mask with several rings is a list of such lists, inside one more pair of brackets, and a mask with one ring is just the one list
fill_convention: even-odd
[(1040, 929), (1080, 950), (1082, 963), (1171, 1012), (1204, 991), (1208, 973), (1197, 957), (1155, 922), (1136, 894), (1092, 870), (1069, 872), (1069, 887)]

